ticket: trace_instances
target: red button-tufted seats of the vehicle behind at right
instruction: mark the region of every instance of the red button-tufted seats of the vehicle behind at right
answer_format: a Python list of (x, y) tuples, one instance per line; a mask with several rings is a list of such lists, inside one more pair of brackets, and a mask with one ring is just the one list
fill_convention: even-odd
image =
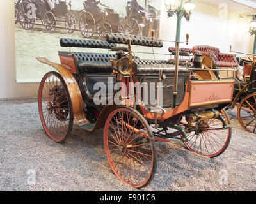
[(219, 48), (211, 47), (208, 45), (196, 45), (193, 47), (193, 52), (201, 52), (202, 55), (212, 55), (212, 59), (216, 62), (218, 67), (236, 67), (238, 62), (236, 55), (220, 53)]

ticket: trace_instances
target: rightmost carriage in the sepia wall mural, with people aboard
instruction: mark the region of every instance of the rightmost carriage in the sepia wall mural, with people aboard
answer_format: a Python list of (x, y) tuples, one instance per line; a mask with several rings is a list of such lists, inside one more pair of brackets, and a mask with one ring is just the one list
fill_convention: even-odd
[(156, 36), (159, 35), (159, 17), (158, 11), (148, 5), (148, 11), (140, 6), (136, 0), (127, 2), (125, 17), (125, 34), (134, 34), (138, 36), (150, 37), (150, 31), (154, 30)]

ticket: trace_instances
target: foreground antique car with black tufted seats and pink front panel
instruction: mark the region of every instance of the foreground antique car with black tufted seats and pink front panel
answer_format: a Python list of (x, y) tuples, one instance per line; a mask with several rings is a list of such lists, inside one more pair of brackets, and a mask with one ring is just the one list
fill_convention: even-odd
[[(106, 41), (61, 38), (60, 45), (68, 51), (58, 53), (60, 64), (37, 58), (58, 71), (46, 73), (38, 91), (47, 136), (65, 142), (73, 120), (87, 131), (104, 128), (111, 170), (136, 188), (154, 177), (157, 141), (184, 144), (196, 154), (216, 157), (231, 138), (228, 116), (221, 110), (232, 101), (234, 80), (198, 80), (193, 64), (180, 66), (179, 52), (175, 62), (156, 60), (154, 47), (163, 47), (163, 40), (153, 33), (151, 38), (108, 33)], [(173, 41), (177, 50), (188, 37)], [(136, 56), (140, 52), (132, 45), (150, 48), (154, 60)], [(71, 52), (76, 47), (102, 48), (106, 53)], [(100, 97), (99, 84), (107, 89)], [(148, 100), (151, 92), (154, 103)]]

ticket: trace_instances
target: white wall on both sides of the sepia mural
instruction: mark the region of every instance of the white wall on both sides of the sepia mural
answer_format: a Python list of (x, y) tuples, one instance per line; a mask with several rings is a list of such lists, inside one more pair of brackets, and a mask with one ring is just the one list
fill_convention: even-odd
[[(157, 0), (156, 0), (157, 1)], [(167, 18), (164, 0), (161, 8), (161, 34), (165, 40), (175, 40), (176, 17)], [(36, 96), (38, 83), (19, 84), (15, 76), (15, 25), (13, 1), (0, 0), (0, 98)], [(228, 12), (227, 19), (219, 17), (220, 9), (195, 1), (195, 12), (191, 22), (182, 20), (180, 40), (190, 34), (189, 45), (212, 45), (228, 52), (229, 45), (234, 50), (252, 52), (253, 36), (248, 33), (249, 18), (240, 18), (237, 13)], [(167, 52), (168, 43), (161, 48)], [(167, 57), (167, 56), (166, 56)], [(31, 68), (34, 69), (34, 68)]]

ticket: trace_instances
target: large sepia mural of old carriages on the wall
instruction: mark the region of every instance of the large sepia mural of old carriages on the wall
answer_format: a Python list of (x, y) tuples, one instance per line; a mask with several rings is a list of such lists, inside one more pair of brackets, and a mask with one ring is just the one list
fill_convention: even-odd
[(161, 4), (156, 0), (15, 0), (14, 4), (17, 82), (40, 82), (43, 73), (51, 71), (35, 57), (40, 53), (58, 62), (56, 52), (67, 50), (58, 45), (60, 38), (105, 40), (106, 33), (150, 37), (151, 29), (159, 37)]

